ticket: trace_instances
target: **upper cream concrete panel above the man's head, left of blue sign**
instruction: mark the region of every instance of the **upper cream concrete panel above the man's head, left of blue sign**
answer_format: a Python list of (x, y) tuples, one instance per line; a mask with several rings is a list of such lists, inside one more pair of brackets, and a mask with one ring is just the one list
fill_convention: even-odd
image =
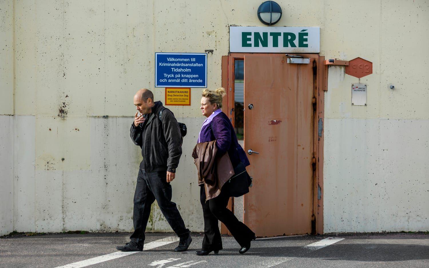
[[(152, 1), (106, 2), (104, 34), (108, 42), (105, 65), (101, 67), (106, 83), (106, 114), (134, 114), (136, 91), (154, 89), (153, 10)], [(153, 92), (160, 100), (157, 90)]]

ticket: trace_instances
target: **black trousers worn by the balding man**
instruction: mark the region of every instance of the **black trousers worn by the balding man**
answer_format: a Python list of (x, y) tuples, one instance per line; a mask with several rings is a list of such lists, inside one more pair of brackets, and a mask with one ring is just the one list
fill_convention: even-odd
[(145, 241), (145, 230), (151, 214), (151, 205), (155, 200), (178, 237), (187, 238), (190, 233), (189, 229), (185, 228), (176, 204), (171, 202), (171, 185), (166, 179), (166, 171), (146, 173), (143, 169), (139, 169), (134, 193), (134, 232), (130, 236), (131, 241), (136, 244), (143, 245)]

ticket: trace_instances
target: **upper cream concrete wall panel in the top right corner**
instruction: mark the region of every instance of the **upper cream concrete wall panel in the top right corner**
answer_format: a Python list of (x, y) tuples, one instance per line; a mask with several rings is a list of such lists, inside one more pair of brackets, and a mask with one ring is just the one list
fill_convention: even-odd
[(381, 117), (429, 119), (429, 3), (381, 1), (380, 18)]

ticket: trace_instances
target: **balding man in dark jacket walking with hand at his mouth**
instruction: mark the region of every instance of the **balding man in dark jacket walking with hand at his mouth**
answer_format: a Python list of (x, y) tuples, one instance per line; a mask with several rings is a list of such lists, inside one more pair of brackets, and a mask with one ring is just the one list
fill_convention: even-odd
[(136, 93), (134, 105), (138, 111), (131, 125), (130, 136), (133, 142), (142, 148), (143, 160), (140, 163), (134, 193), (134, 232), (129, 243), (116, 249), (143, 250), (151, 205), (157, 200), (167, 222), (180, 238), (174, 251), (185, 251), (192, 238), (176, 204), (171, 202), (170, 182), (175, 178), (182, 154), (182, 139), (177, 120), (169, 109), (163, 107), (162, 102), (154, 102), (154, 94), (148, 89), (143, 88)]

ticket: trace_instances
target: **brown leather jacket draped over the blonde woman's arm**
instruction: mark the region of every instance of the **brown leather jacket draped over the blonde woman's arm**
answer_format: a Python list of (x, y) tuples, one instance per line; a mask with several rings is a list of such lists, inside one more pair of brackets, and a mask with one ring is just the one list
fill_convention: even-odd
[(193, 163), (198, 170), (198, 185), (204, 184), (206, 202), (218, 196), (225, 182), (234, 175), (228, 153), (215, 157), (217, 151), (216, 141), (211, 141), (197, 143), (192, 152)]

